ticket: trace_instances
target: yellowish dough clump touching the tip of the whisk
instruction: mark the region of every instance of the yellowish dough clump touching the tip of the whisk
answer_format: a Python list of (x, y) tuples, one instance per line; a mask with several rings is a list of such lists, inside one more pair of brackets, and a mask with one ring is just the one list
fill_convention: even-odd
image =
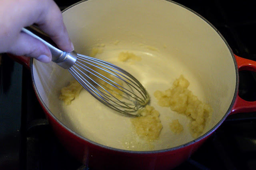
[(141, 116), (131, 118), (131, 122), (136, 129), (136, 134), (148, 141), (158, 139), (163, 127), (159, 119), (159, 112), (152, 106), (146, 106), (141, 112)]

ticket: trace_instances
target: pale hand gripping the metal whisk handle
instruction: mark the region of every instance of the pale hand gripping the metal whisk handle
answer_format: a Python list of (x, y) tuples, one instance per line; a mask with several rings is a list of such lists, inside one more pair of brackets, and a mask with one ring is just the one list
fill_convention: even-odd
[(47, 33), (63, 51), (74, 50), (62, 14), (53, 0), (0, 0), (0, 12), (0, 53), (34, 57), (49, 63), (52, 55), (48, 47), (21, 32), (22, 27), (33, 24)]

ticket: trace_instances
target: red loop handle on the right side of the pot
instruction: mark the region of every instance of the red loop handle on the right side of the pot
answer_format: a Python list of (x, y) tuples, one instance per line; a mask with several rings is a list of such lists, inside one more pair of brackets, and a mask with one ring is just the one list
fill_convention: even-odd
[[(256, 61), (244, 59), (242, 57), (238, 57), (237, 55), (234, 55), (234, 56), (236, 58), (238, 71), (248, 70), (248, 71), (256, 72)], [(232, 107), (230, 115), (234, 113), (253, 112), (253, 111), (256, 111), (256, 101), (248, 102), (240, 98), (237, 94), (236, 101)]]

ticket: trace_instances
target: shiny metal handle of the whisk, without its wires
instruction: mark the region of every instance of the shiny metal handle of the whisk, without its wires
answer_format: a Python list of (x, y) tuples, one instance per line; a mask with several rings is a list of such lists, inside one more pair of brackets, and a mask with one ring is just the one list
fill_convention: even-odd
[(66, 52), (58, 49), (57, 45), (50, 39), (50, 37), (42, 32), (39, 28), (30, 26), (22, 28), (22, 32), (31, 35), (47, 45), (52, 53), (52, 61), (62, 68), (68, 69), (76, 62), (77, 53), (75, 51)]

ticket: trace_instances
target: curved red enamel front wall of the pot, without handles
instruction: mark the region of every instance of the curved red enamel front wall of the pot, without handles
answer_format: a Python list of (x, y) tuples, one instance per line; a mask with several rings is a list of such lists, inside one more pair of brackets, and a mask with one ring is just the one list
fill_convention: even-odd
[(125, 150), (118, 151), (100, 147), (81, 139), (65, 129), (45, 108), (43, 109), (62, 145), (80, 162), (93, 169), (169, 170), (187, 160), (210, 136), (195, 141), (191, 145), (167, 152), (132, 153)]

